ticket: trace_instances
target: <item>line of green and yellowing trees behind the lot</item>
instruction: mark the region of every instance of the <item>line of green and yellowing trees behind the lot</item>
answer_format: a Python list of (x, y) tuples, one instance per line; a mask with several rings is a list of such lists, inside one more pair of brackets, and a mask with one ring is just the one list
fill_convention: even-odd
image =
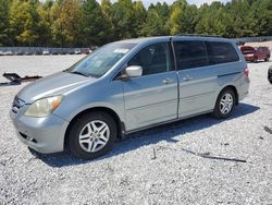
[(118, 0), (0, 0), (0, 46), (89, 47), (180, 33), (227, 38), (271, 36), (271, 0), (232, 0), (197, 8)]

